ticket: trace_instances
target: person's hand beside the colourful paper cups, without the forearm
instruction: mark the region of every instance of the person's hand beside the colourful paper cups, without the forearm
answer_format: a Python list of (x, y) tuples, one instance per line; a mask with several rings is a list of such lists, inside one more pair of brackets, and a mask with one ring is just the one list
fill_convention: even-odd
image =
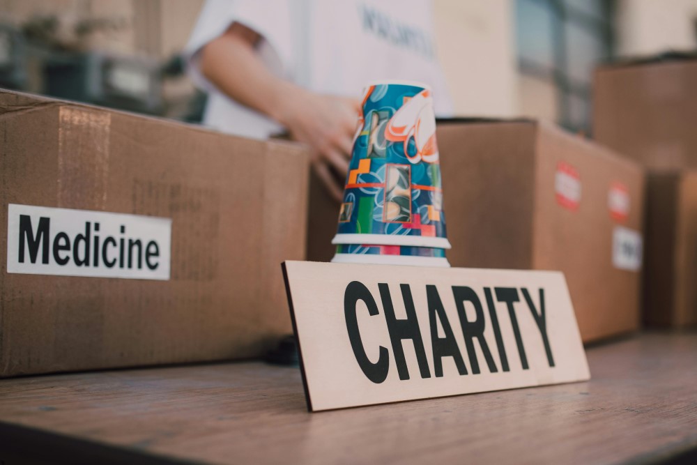
[(360, 100), (297, 89), (278, 107), (277, 121), (312, 150), (312, 168), (336, 201), (344, 197)]

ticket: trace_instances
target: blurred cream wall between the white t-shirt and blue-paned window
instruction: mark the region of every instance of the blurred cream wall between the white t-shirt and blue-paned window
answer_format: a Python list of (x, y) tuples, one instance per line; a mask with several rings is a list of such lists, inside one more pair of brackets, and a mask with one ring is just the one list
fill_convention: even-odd
[(458, 116), (518, 110), (512, 0), (434, 0), (436, 46)]

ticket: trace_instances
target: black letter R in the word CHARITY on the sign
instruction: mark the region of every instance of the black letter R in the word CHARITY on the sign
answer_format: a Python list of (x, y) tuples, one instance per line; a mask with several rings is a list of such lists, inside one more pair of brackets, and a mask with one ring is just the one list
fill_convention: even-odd
[[(471, 287), (463, 286), (453, 286), (452, 296), (455, 298), (455, 305), (457, 306), (457, 314), (460, 317), (460, 326), (462, 327), (462, 333), (465, 337), (465, 346), (467, 349), (467, 354), (470, 358), (470, 366), (472, 367), (473, 374), (479, 374), (479, 361), (477, 360), (477, 353), (475, 352), (475, 344), (473, 340), (477, 338), (482, 348), (482, 353), (484, 353), (484, 359), (487, 360), (487, 365), (489, 366), (489, 372), (496, 373), (496, 363), (493, 363), (493, 357), (491, 356), (491, 351), (489, 351), (489, 344), (487, 340), (484, 339), (484, 310), (482, 310), (482, 303), (477, 297), (477, 293)], [(465, 312), (465, 302), (470, 302), (475, 307), (475, 314), (477, 318), (475, 321), (467, 320), (467, 313)]]

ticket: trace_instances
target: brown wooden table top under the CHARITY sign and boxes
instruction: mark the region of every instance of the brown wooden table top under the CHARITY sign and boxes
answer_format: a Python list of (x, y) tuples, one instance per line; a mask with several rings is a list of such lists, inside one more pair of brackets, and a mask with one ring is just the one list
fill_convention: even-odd
[(587, 383), (314, 414), (261, 362), (8, 379), (0, 464), (697, 464), (697, 334), (588, 359)]

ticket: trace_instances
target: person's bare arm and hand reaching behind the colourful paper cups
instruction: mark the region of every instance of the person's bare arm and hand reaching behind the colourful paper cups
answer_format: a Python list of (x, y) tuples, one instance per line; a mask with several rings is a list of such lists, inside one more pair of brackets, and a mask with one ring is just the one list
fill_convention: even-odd
[(259, 59), (260, 36), (233, 23), (201, 50), (201, 73), (227, 96), (282, 124), (312, 148), (312, 165), (330, 195), (341, 201), (360, 102), (324, 96), (276, 77)]

